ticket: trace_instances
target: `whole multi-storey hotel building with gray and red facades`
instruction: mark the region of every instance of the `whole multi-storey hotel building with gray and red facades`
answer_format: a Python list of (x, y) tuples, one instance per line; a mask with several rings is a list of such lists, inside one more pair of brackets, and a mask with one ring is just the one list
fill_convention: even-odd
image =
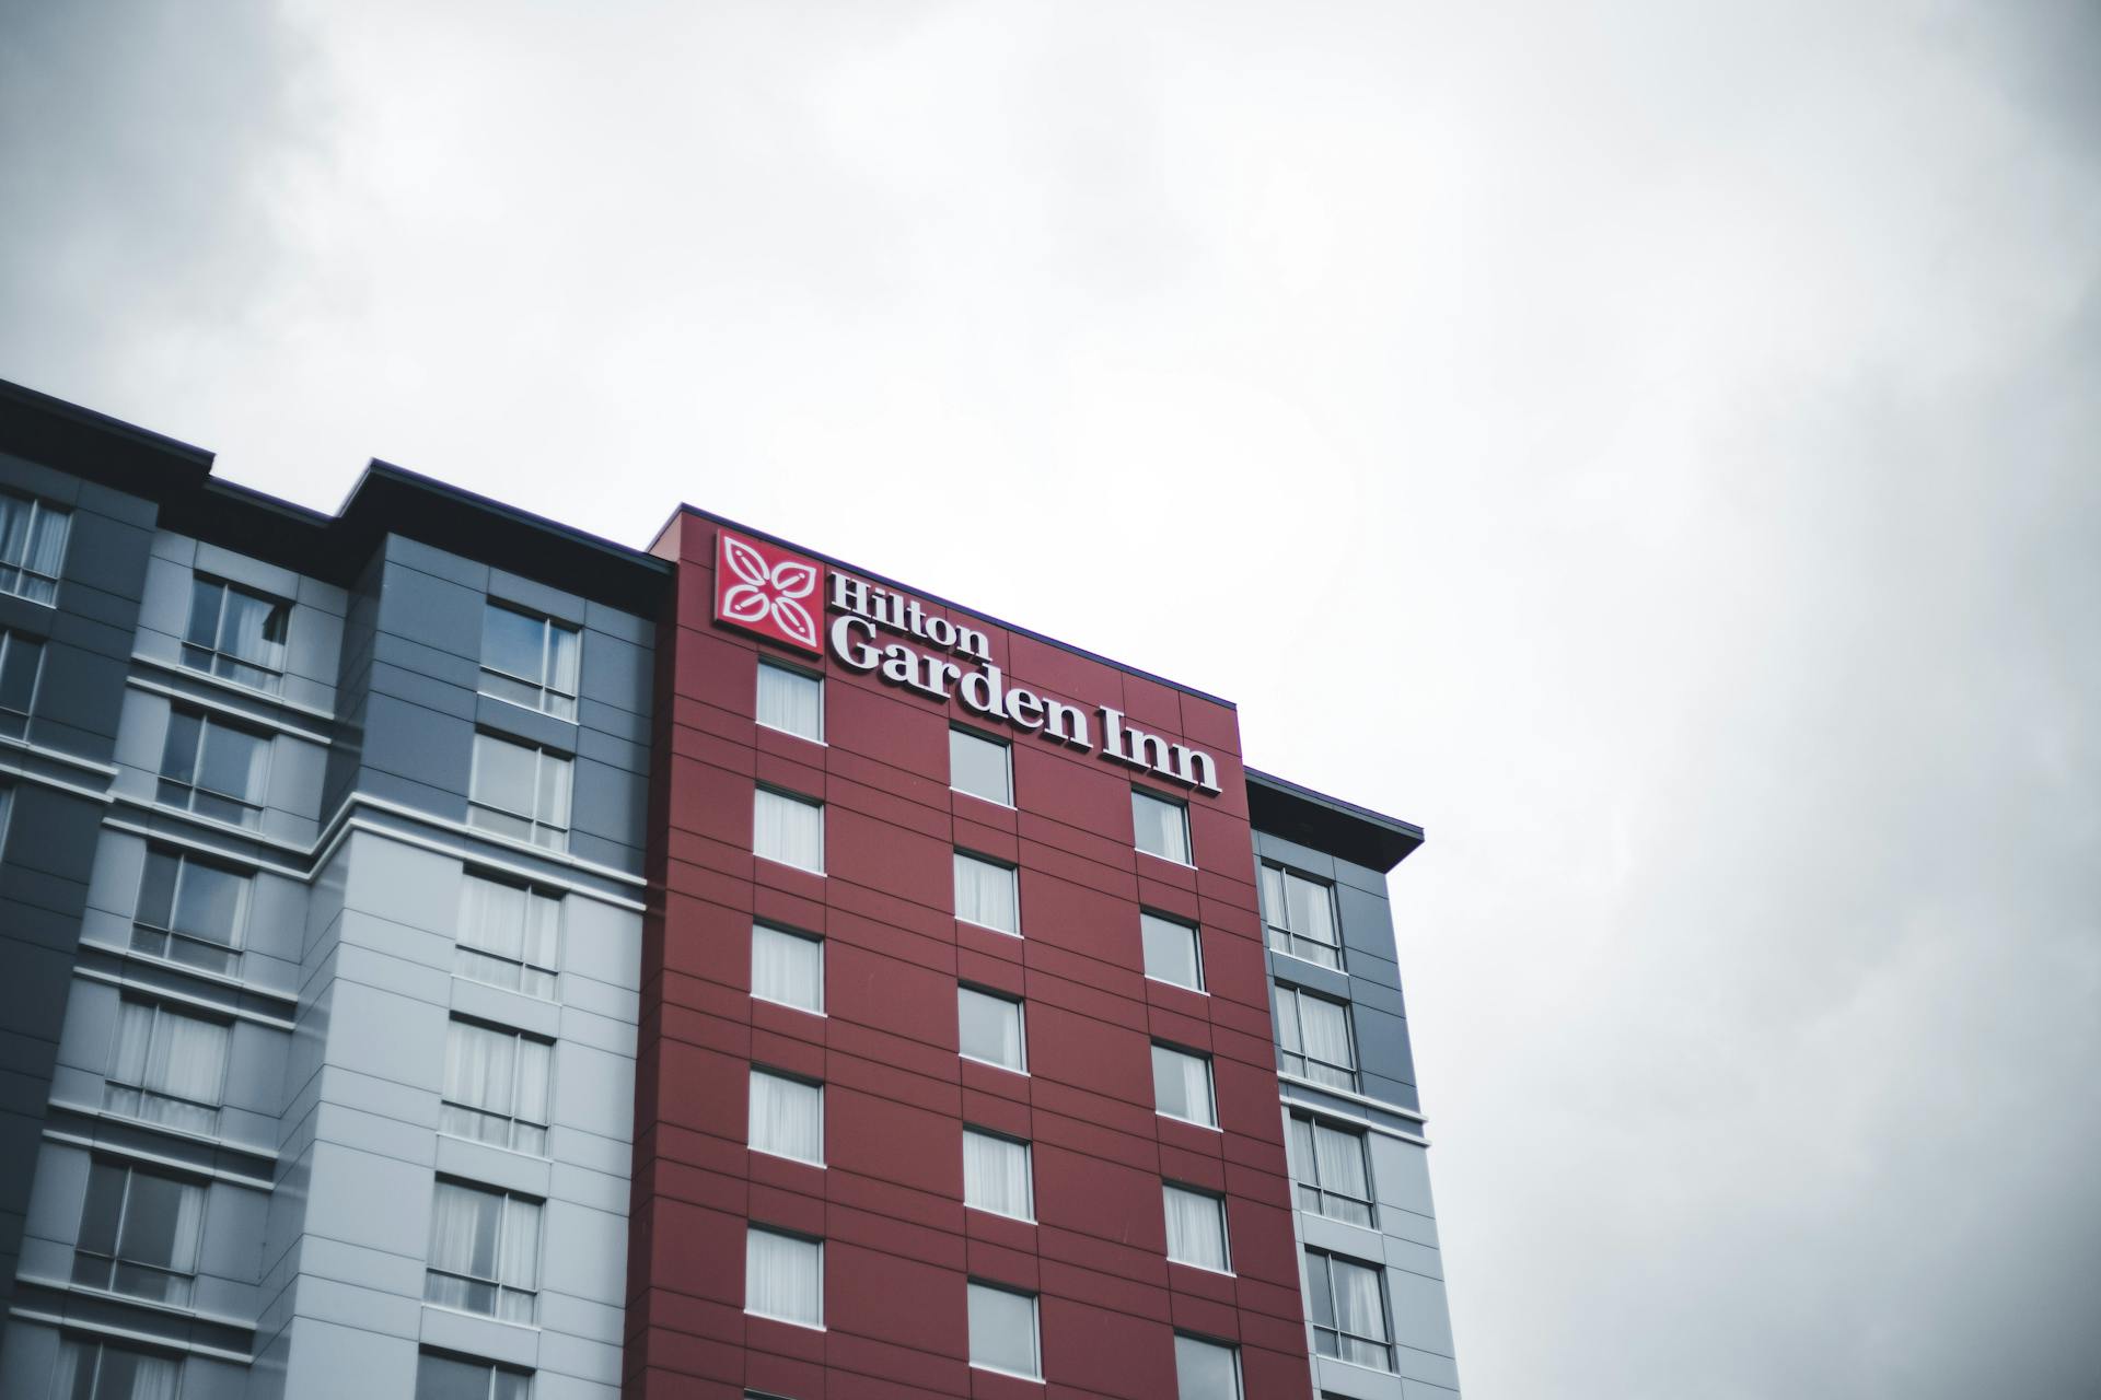
[(0, 384), (0, 1394), (1450, 1400), (1420, 840), (689, 506)]

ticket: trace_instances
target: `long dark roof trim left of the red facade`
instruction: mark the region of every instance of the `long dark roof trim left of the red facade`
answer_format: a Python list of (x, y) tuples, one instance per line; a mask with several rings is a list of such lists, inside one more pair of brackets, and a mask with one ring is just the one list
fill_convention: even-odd
[(624, 544), (372, 460), (336, 514), (214, 481), (212, 453), (0, 380), (0, 449), (160, 504), (172, 531), (353, 584), (389, 533), (656, 617), (672, 567)]

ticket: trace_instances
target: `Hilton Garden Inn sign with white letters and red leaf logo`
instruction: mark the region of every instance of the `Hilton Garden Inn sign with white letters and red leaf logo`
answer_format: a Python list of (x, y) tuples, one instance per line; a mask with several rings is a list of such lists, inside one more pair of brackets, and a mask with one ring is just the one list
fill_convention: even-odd
[[(931, 617), (918, 598), (832, 569), (819, 611), (824, 573), (813, 558), (727, 529), (719, 531), (714, 619), (817, 657), (830, 642), (832, 659), (847, 670), (876, 672), (889, 684), (943, 705), (954, 699), (971, 714), (1034, 730), (1074, 749), (1095, 751), (1095, 720), (1099, 720), (1099, 751), (1105, 760), (1219, 793), (1219, 764), (1210, 754), (1132, 728), (1124, 722), (1124, 714), (1109, 705), (1095, 705), (1088, 712), (1006, 684), (1000, 667), (992, 663), (992, 646), (983, 632), (948, 617)], [(830, 625), (819, 628), (824, 613), (834, 617)], [(885, 634), (912, 638), (924, 646), (885, 640)]]

